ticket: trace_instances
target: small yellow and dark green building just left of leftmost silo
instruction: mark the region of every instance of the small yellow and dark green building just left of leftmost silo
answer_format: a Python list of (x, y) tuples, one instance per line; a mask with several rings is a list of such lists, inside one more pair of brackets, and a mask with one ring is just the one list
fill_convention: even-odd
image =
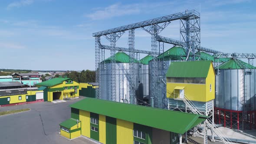
[(98, 87), (96, 82), (89, 82), (89, 83), (79, 83), (79, 95), (95, 98), (96, 91), (95, 89)]

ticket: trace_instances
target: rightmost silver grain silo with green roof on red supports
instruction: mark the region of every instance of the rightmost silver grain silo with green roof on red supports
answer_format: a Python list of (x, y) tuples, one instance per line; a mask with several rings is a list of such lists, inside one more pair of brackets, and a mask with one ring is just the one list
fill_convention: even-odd
[(255, 128), (255, 67), (230, 59), (215, 69), (215, 123), (241, 130)]

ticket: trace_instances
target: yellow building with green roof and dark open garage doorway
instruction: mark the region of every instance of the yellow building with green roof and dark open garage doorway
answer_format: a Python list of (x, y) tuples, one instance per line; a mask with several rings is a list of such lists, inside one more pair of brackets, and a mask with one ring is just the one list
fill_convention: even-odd
[(56, 99), (64, 100), (79, 96), (79, 83), (70, 78), (55, 78), (45, 82), (40, 82), (39, 90), (43, 90), (44, 101), (53, 101)]

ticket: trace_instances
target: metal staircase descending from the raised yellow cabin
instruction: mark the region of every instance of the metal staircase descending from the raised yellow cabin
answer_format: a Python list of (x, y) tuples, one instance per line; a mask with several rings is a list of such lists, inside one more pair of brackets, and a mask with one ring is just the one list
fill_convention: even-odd
[[(194, 114), (197, 115), (203, 115), (201, 113), (201, 111), (199, 111), (199, 109), (193, 104), (192, 101), (190, 101), (190, 99), (187, 97), (187, 95), (184, 95), (183, 98), (184, 103), (186, 104), (186, 106), (190, 109), (191, 112), (193, 112)], [(208, 121), (208, 119), (210, 121)], [(223, 144), (232, 144), (232, 141), (230, 141), (230, 139), (228, 137), (226, 137), (226, 135), (219, 131), (217, 128), (214, 127), (214, 124), (211, 122), (211, 118), (208, 118), (205, 122), (208, 128), (210, 128), (219, 138), (220, 140), (223, 142)], [(207, 132), (207, 131), (206, 131)], [(207, 134), (206, 134), (207, 136)], [(207, 141), (207, 137), (205, 138), (205, 140)], [(207, 142), (205, 142), (207, 143)]]

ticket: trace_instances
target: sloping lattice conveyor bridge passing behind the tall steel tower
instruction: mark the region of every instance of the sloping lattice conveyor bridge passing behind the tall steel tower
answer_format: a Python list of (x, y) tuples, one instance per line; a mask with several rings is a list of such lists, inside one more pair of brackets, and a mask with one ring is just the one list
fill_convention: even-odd
[[(164, 43), (169, 43), (169, 44), (173, 44), (173, 45), (177, 45), (177, 46), (185, 46), (185, 43), (179, 41), (179, 40), (175, 40), (175, 39), (170, 39), (164, 36), (157, 36), (157, 40), (159, 42), (164, 42)], [(220, 51), (217, 50), (213, 50), (213, 49), (208, 49), (206, 47), (200, 46), (200, 48), (195, 48), (197, 50), (201, 50), (204, 52), (210, 52), (210, 53), (221, 53)]]

